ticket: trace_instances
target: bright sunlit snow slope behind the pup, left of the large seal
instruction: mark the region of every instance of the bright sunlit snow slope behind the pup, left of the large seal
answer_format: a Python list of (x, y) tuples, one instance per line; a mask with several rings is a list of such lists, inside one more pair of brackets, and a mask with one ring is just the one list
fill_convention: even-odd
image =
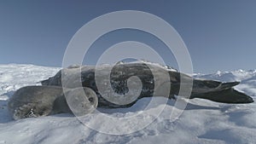
[(60, 69), (33, 65), (0, 65), (0, 95), (26, 85), (38, 85), (40, 80), (55, 75)]

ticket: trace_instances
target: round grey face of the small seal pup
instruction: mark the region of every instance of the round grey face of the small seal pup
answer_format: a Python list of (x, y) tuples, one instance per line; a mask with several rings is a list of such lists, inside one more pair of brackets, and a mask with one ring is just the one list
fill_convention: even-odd
[(64, 95), (71, 111), (78, 117), (93, 112), (98, 104), (97, 95), (90, 88), (68, 89)]

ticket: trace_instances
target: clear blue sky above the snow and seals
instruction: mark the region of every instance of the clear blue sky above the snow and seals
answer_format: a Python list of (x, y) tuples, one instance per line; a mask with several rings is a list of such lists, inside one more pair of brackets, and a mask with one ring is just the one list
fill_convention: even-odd
[[(141, 10), (177, 30), (195, 72), (255, 69), (255, 8), (253, 0), (1, 1), (0, 63), (61, 66), (67, 44), (88, 21), (117, 10)], [(104, 49), (127, 40), (147, 43), (168, 65), (177, 67), (163, 43), (133, 30), (110, 32), (98, 39), (85, 55), (85, 63), (96, 63)]]

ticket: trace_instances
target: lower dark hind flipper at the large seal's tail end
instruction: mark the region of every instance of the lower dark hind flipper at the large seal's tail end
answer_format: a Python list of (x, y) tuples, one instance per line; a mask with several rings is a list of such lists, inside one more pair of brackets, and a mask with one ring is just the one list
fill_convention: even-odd
[(219, 91), (201, 93), (201, 94), (192, 94), (190, 96), (191, 99), (193, 98), (201, 98), (207, 99), (216, 102), (223, 102), (223, 103), (251, 103), (253, 102), (253, 98), (243, 94), (236, 89), (223, 89)]

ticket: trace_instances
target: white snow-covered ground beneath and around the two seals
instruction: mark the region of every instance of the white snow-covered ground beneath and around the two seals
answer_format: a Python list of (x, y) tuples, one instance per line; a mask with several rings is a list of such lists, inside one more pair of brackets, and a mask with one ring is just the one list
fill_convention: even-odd
[[(26, 118), (14, 121), (7, 111), (7, 101), (16, 89), (55, 75), (60, 68), (32, 65), (0, 65), (0, 144), (26, 143), (256, 143), (256, 103), (222, 104), (207, 100), (190, 100), (183, 114), (170, 121), (175, 101), (159, 104), (145, 110), (144, 117), (122, 127), (127, 131), (141, 121), (154, 120), (155, 110), (165, 107), (153, 123), (143, 130), (126, 135), (108, 135), (92, 130), (70, 114), (58, 114), (42, 118)], [(256, 101), (256, 71), (217, 72), (196, 74), (196, 78), (222, 81), (241, 81), (236, 86)], [(164, 100), (165, 98), (154, 98)], [(126, 117), (142, 112), (150, 98), (143, 98), (124, 109), (99, 109), (113, 117)], [(184, 100), (185, 101), (185, 100)], [(87, 123), (98, 128), (114, 128), (117, 123), (99, 118), (98, 113), (88, 116)], [(94, 119), (95, 120), (95, 119)]]

